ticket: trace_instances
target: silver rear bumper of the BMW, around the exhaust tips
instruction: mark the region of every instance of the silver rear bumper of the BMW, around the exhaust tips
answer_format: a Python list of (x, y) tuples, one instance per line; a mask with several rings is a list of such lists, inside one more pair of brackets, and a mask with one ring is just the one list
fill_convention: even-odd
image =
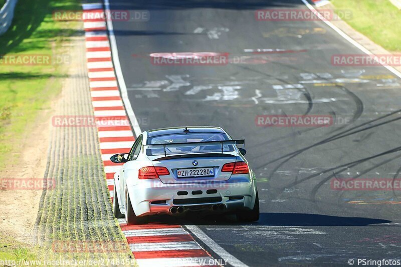
[(224, 182), (185, 184), (165, 184), (151, 179), (128, 186), (128, 192), (137, 216), (172, 214), (171, 207), (182, 207), (180, 211), (230, 211), (253, 208), (256, 183), (249, 176), (232, 177)]

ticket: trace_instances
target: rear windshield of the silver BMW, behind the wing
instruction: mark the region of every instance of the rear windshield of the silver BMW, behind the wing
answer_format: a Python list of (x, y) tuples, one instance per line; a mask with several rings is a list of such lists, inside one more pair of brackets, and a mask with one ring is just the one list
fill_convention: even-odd
[[(225, 133), (179, 133), (169, 135), (159, 135), (150, 137), (148, 143), (151, 145), (174, 144), (174, 143), (193, 143), (193, 142), (213, 142), (230, 140)], [(223, 151), (234, 151), (233, 145), (224, 145)], [(221, 145), (202, 145), (202, 146), (168, 146), (166, 154), (184, 154), (184, 153), (206, 153), (222, 152)], [(152, 148), (147, 151), (147, 155), (163, 155), (164, 148)]]

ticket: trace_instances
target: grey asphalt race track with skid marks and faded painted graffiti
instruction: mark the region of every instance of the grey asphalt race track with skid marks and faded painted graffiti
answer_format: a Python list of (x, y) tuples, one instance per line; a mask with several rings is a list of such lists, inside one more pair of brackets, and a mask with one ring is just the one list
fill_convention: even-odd
[[(142, 130), (220, 126), (245, 138), (261, 218), (187, 219), (249, 266), (348, 265), (401, 257), (400, 191), (333, 190), (335, 178), (399, 178), (401, 78), (333, 66), (362, 54), (321, 21), (257, 21), (289, 1), (110, 0), (148, 22), (113, 22), (128, 97)], [(255, 52), (262, 53), (255, 53)], [(159, 66), (150, 54), (229, 53), (221, 66)], [(262, 127), (258, 115), (330, 115), (329, 127)]]

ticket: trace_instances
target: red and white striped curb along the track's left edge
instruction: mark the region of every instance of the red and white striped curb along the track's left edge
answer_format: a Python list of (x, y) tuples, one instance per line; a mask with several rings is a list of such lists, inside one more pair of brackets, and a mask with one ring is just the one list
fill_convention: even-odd
[[(85, 13), (103, 13), (103, 5), (83, 4), (83, 10)], [(116, 153), (128, 153), (135, 138), (118, 90), (106, 21), (85, 20), (84, 29), (89, 87), (95, 119), (107, 122), (98, 124), (97, 129), (107, 185), (112, 198), (113, 176), (122, 164), (112, 163), (110, 157)], [(139, 266), (210, 266), (218, 262), (179, 225), (126, 225), (125, 220), (119, 222)]]

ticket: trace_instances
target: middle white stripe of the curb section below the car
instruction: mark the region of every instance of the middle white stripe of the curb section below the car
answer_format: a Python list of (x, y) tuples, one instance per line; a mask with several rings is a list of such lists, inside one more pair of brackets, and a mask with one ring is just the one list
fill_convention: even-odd
[(160, 242), (160, 243), (134, 243), (129, 244), (131, 251), (161, 251), (161, 250), (184, 250), (184, 249), (199, 249), (199, 246), (194, 241), (188, 242)]

